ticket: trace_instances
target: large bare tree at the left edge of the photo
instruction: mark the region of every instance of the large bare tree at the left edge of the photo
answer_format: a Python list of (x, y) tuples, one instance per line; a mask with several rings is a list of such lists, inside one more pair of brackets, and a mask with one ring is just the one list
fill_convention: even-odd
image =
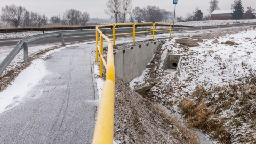
[(3, 22), (11, 23), (11, 25), (17, 28), (22, 25), (25, 12), (26, 9), (21, 6), (17, 7), (14, 4), (6, 5), (2, 7), (1, 19)]

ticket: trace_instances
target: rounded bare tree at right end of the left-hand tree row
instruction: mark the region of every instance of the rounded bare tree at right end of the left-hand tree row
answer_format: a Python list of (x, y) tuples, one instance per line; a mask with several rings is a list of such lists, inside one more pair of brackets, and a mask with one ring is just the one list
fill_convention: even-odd
[(63, 13), (65, 20), (67, 20), (69, 25), (78, 25), (80, 20), (81, 20), (81, 11), (76, 10), (76, 9), (69, 9), (66, 10)]

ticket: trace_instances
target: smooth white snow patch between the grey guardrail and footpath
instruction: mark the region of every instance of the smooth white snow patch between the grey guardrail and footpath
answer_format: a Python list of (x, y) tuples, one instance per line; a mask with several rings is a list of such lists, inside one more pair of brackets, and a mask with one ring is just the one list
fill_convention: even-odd
[[(37, 49), (41, 49), (42, 46), (38, 46)], [(63, 49), (63, 48), (61, 48)], [(61, 49), (55, 49), (45, 53), (43, 58), (47, 57), (54, 52), (58, 52)], [(2, 57), (1, 57), (2, 58)], [(3, 92), (0, 92), (0, 113), (9, 110), (21, 102), (25, 101), (25, 96), (30, 91), (33, 91), (33, 87), (38, 84), (41, 79), (47, 75), (50, 75), (49, 71), (46, 70), (43, 59), (36, 59), (32, 62), (31, 66), (21, 71), (18, 77), (15, 78), (11, 85), (7, 87)], [(43, 91), (38, 92), (42, 94)], [(36, 97), (36, 95), (34, 95)]]

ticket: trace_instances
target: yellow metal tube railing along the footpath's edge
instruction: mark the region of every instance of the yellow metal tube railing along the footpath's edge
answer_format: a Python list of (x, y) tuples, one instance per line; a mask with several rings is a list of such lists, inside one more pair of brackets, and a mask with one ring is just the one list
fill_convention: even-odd
[[(161, 29), (155, 30), (155, 25), (157, 23), (170, 23), (170, 29)], [(136, 25), (152, 25), (151, 31), (135, 31)], [(116, 34), (116, 26), (122, 25), (132, 25), (133, 32), (132, 33), (122, 33)], [(100, 27), (112, 26), (113, 35), (104, 35), (100, 31)], [(113, 143), (114, 136), (114, 101), (115, 101), (115, 65), (114, 65), (114, 55), (113, 55), (113, 45), (116, 42), (116, 35), (127, 35), (133, 34), (133, 42), (135, 42), (135, 34), (139, 33), (153, 33), (153, 40), (155, 38), (155, 31), (169, 31), (170, 37), (172, 26), (171, 22), (148, 22), (148, 23), (117, 23), (116, 25), (101, 25), (96, 27), (96, 62), (98, 62), (99, 52), (100, 52), (100, 77), (103, 76), (103, 65), (106, 69), (106, 81), (103, 84), (100, 105), (97, 115), (97, 121), (95, 125), (94, 135), (93, 135), (93, 144), (98, 143)], [(100, 35), (100, 46), (99, 46), (99, 35)], [(108, 38), (109, 36), (113, 36), (113, 45)], [(107, 62), (103, 58), (103, 40), (108, 44), (108, 53), (107, 53)]]

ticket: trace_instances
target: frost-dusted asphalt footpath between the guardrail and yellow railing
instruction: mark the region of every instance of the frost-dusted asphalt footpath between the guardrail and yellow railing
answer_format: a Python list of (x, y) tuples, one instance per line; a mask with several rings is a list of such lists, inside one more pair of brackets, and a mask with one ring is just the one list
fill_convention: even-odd
[[(44, 60), (51, 74), (27, 93), (30, 99), (0, 114), (0, 143), (92, 142), (97, 110), (91, 73), (94, 44), (68, 47)], [(34, 98), (38, 91), (43, 94)]]

